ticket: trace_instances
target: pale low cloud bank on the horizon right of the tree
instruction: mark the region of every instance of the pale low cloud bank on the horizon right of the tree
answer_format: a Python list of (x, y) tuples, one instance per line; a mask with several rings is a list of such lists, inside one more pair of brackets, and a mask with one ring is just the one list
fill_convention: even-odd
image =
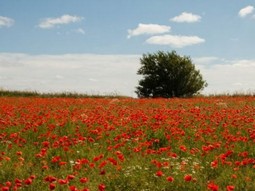
[(255, 60), (226, 60), (217, 57), (192, 60), (208, 82), (203, 93), (255, 92)]

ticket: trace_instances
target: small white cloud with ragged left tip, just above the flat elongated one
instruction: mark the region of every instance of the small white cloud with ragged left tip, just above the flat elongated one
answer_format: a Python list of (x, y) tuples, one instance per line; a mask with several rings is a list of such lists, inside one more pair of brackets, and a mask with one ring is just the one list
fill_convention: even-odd
[(158, 24), (143, 24), (140, 23), (138, 27), (135, 29), (129, 29), (128, 30), (128, 38), (131, 38), (132, 36), (138, 36), (142, 34), (162, 34), (169, 32), (171, 30), (170, 26), (166, 25), (158, 25)]

